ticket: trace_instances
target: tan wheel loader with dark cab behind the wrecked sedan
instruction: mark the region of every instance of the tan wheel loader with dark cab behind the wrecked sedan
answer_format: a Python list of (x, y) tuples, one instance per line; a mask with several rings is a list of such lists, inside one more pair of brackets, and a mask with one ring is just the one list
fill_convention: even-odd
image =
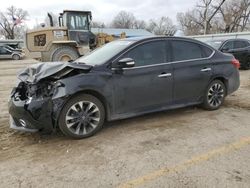
[[(105, 33), (91, 32), (90, 11), (64, 10), (59, 16), (59, 26), (55, 27), (52, 16), (48, 14), (49, 27), (26, 33), (26, 46), (30, 54), (42, 61), (69, 61), (115, 38)], [(125, 33), (121, 38), (126, 37)], [(38, 54), (38, 55), (37, 55)]]

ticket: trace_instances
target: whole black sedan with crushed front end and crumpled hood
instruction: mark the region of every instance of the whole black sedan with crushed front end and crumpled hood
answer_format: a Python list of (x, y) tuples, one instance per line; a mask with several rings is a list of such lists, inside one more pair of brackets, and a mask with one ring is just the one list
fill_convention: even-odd
[(117, 40), (71, 63), (23, 70), (9, 101), (10, 126), (85, 138), (105, 121), (202, 105), (216, 110), (239, 87), (239, 62), (193, 39)]

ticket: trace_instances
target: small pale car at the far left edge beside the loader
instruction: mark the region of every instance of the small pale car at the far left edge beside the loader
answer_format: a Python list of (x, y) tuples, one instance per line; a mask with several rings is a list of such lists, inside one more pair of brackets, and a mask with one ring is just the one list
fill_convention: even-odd
[(24, 57), (21, 49), (14, 49), (8, 45), (0, 46), (0, 59), (20, 60)]

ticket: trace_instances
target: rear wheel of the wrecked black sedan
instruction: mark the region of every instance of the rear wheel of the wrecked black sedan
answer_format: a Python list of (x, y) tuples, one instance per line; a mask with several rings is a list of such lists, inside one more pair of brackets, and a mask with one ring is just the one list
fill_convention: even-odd
[(226, 87), (220, 80), (212, 81), (204, 97), (203, 107), (206, 110), (217, 110), (223, 104), (226, 97)]

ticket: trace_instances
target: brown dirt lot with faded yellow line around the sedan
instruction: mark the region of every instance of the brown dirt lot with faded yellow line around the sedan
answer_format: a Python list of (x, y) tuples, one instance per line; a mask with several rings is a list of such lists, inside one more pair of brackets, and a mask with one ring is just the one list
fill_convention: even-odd
[(71, 140), (9, 129), (15, 74), (32, 63), (0, 61), (0, 187), (250, 187), (250, 71), (217, 111), (154, 113)]

